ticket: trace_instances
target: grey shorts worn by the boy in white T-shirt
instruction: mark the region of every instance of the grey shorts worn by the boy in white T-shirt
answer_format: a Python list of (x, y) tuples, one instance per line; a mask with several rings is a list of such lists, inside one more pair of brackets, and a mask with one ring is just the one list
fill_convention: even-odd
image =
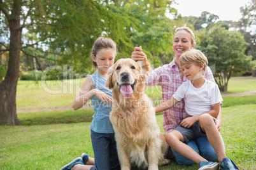
[[(191, 115), (186, 116), (185, 119), (187, 117), (191, 117)], [(213, 121), (215, 122), (214, 117), (213, 117)], [(200, 127), (199, 121), (195, 122), (190, 128), (184, 128), (183, 126), (179, 125), (173, 130), (179, 131), (183, 135), (185, 143), (187, 144), (190, 140), (206, 136), (206, 133), (204, 133)]]

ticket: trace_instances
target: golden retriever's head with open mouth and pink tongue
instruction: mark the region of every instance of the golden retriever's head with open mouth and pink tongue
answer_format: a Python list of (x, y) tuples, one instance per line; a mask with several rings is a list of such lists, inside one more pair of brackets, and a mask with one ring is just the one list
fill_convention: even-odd
[(108, 70), (106, 87), (112, 89), (113, 93), (120, 91), (124, 98), (130, 98), (132, 93), (136, 96), (143, 93), (149, 72), (150, 63), (146, 60), (135, 62), (131, 58), (120, 59)]

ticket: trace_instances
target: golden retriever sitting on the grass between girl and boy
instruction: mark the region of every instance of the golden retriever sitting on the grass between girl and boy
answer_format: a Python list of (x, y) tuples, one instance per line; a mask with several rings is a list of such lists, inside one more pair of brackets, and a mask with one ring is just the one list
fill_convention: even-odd
[(106, 86), (114, 100), (110, 121), (122, 170), (131, 166), (156, 170), (169, 163), (169, 146), (160, 133), (152, 101), (144, 93), (149, 72), (150, 63), (131, 58), (118, 60), (108, 70)]

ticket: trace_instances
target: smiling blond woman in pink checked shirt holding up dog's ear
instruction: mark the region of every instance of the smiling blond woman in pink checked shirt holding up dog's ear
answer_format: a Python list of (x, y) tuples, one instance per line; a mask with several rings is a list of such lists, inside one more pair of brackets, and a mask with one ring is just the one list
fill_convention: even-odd
[[(182, 53), (188, 49), (192, 49), (196, 46), (195, 36), (191, 29), (188, 27), (180, 27), (175, 30), (173, 37), (173, 51), (175, 54), (174, 60), (162, 67), (153, 70), (146, 80), (148, 86), (161, 86), (162, 87), (162, 100), (167, 101), (174, 92), (178, 89), (183, 82), (188, 81), (188, 79), (183, 75), (183, 70), (178, 65), (178, 60)], [(144, 60), (146, 56), (142, 52), (141, 48), (135, 47), (132, 53), (132, 59), (134, 60)], [(214, 81), (213, 74), (210, 67), (206, 68), (204, 72), (204, 78), (210, 81)], [(170, 132), (179, 125), (185, 116), (184, 101), (179, 101), (174, 107), (169, 108), (163, 112), (163, 128), (166, 133), (166, 141), (169, 143)], [(217, 117), (217, 128), (220, 129), (221, 112)], [(224, 141), (222, 140), (224, 145)], [(197, 154), (200, 154), (204, 159), (210, 160), (212, 162), (218, 162), (218, 157), (213, 147), (211, 147), (210, 142), (206, 137), (197, 138), (196, 140), (191, 140), (188, 146), (193, 148)], [(173, 154), (176, 162), (183, 165), (192, 165), (195, 162), (183, 157), (181, 154), (173, 150)]]

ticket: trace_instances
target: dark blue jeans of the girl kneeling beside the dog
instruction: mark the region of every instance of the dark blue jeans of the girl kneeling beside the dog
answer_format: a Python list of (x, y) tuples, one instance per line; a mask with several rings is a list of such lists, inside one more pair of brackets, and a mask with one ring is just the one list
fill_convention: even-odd
[(119, 170), (120, 164), (117, 155), (117, 143), (114, 133), (96, 133), (90, 131), (92, 148), (94, 150), (95, 166), (90, 170)]

